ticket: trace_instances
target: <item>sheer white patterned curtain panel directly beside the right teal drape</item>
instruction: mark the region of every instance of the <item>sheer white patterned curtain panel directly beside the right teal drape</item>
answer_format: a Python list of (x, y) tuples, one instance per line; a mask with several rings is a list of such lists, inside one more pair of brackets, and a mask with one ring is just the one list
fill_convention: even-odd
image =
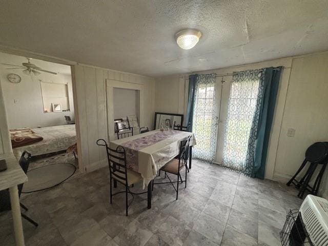
[(254, 166), (262, 70), (233, 73), (228, 115), (224, 129), (222, 165), (251, 175)]

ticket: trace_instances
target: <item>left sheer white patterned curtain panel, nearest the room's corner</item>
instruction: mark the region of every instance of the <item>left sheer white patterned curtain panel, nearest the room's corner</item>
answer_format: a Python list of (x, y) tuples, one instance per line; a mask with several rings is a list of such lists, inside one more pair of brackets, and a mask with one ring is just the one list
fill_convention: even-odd
[(213, 162), (217, 144), (216, 75), (198, 74), (195, 86), (193, 132), (197, 145), (193, 148), (196, 159)]

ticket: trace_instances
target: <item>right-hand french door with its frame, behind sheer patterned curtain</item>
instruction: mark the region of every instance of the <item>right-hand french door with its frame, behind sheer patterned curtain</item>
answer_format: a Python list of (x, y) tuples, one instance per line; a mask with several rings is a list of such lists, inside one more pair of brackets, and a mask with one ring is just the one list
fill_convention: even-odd
[(216, 162), (236, 171), (247, 169), (249, 139), (259, 96), (259, 73), (246, 75), (227, 77), (222, 84)]

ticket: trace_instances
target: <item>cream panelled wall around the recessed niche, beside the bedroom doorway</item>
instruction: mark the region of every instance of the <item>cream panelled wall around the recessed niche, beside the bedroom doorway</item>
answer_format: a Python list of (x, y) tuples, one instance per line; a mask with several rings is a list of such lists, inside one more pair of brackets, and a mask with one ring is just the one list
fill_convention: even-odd
[[(80, 138), (79, 161), (84, 171), (91, 171), (107, 165), (104, 147), (98, 147), (96, 141), (104, 138), (108, 141), (106, 79), (144, 85), (144, 124), (151, 127), (154, 118), (155, 82), (153, 78), (100, 69), (91, 66), (75, 65), (74, 80), (76, 91), (77, 134)], [(124, 100), (124, 98), (122, 98)], [(111, 112), (113, 113), (113, 112)]]

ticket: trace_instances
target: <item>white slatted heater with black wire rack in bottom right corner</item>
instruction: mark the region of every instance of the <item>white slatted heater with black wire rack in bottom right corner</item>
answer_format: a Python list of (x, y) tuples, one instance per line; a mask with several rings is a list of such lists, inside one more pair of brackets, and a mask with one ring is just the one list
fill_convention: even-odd
[(308, 195), (299, 210), (291, 210), (280, 231), (283, 246), (328, 246), (328, 201)]

